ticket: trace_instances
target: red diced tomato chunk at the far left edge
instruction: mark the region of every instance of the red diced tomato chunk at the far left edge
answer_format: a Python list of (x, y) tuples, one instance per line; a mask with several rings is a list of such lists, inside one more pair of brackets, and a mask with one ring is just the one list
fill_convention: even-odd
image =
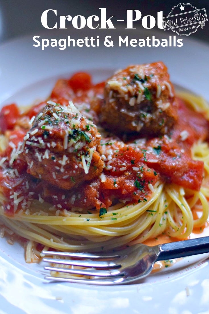
[(19, 116), (20, 112), (16, 104), (4, 106), (0, 111), (1, 132), (4, 133), (6, 130), (12, 130)]

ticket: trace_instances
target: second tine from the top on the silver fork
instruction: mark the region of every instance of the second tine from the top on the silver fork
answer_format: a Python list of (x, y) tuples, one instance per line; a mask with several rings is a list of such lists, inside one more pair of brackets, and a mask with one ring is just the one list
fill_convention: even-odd
[(120, 264), (108, 261), (80, 261), (73, 259), (55, 259), (55, 258), (43, 258), (43, 262), (54, 263), (54, 264), (64, 264), (70, 266), (80, 266), (80, 267), (95, 267), (95, 268), (119, 268)]

